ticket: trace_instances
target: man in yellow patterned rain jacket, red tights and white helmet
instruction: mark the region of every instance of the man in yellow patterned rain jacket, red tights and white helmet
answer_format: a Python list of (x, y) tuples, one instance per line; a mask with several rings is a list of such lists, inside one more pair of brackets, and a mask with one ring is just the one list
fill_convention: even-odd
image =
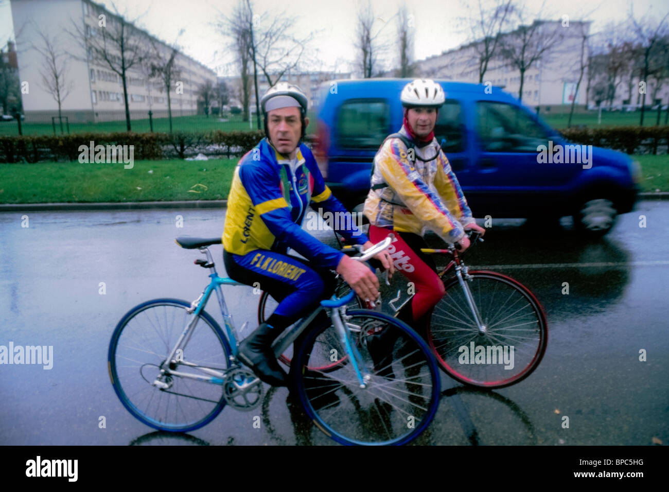
[(444, 284), (422, 236), (435, 232), (449, 243), (469, 246), (466, 229), (481, 234), (448, 159), (434, 138), (438, 110), (446, 100), (440, 84), (417, 79), (400, 96), (404, 120), (374, 158), (371, 189), (365, 200), (369, 239), (383, 240), (390, 232), (395, 242), (389, 252), (395, 268), (415, 285), (415, 296), (397, 315), (425, 334), (425, 314), (444, 296)]

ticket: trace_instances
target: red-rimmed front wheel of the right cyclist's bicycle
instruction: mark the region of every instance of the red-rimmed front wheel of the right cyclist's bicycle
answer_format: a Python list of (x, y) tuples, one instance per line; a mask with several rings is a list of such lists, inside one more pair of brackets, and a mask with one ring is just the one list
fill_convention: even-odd
[(533, 293), (496, 272), (472, 271), (467, 281), (485, 327), (479, 333), (457, 278), (434, 307), (427, 341), (449, 376), (481, 388), (504, 388), (527, 378), (546, 351), (546, 316)]

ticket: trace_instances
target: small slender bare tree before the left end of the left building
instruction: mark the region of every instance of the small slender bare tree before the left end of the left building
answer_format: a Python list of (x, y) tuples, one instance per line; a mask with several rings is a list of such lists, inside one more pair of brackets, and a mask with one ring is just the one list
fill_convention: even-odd
[(58, 104), (58, 120), (60, 121), (60, 131), (63, 131), (62, 103), (70, 94), (74, 83), (68, 80), (68, 58), (69, 55), (59, 48), (58, 36), (52, 37), (43, 33), (39, 28), (35, 31), (41, 39), (41, 43), (33, 45), (42, 58), (42, 68), (39, 70), (41, 82), (44, 90), (52, 95)]

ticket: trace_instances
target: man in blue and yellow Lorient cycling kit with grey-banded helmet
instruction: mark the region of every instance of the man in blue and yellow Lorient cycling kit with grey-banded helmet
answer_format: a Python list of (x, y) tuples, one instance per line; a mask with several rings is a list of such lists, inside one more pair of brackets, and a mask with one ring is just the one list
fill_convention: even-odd
[[(314, 309), (334, 288), (329, 270), (336, 270), (362, 299), (377, 299), (379, 281), (371, 270), (302, 230), (306, 208), (349, 214), (325, 185), (316, 161), (300, 143), (308, 125), (307, 99), (302, 91), (278, 82), (261, 100), (266, 137), (235, 168), (223, 226), (223, 260), (230, 278), (260, 283), (279, 305), (240, 344), (239, 358), (264, 382), (286, 385), (286, 373), (272, 352), (272, 342), (286, 327)], [(355, 244), (372, 246), (349, 225), (339, 232)], [(307, 260), (288, 256), (292, 248)], [(391, 273), (387, 252), (376, 258)], [(257, 285), (256, 285), (257, 286)]]

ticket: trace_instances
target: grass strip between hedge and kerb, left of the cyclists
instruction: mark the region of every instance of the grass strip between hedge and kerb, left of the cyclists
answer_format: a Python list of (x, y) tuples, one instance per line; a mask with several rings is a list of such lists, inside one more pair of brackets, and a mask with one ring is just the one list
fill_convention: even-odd
[(120, 164), (2, 164), (0, 203), (217, 200), (227, 198), (237, 159)]

